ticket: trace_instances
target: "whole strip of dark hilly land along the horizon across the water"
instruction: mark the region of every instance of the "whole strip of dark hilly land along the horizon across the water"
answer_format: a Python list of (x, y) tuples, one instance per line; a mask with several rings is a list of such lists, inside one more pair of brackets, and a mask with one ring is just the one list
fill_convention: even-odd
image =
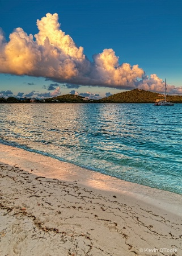
[[(0, 98), (0, 103), (153, 103), (156, 100), (164, 100), (164, 95), (146, 90), (133, 89), (116, 93), (112, 96), (91, 100), (82, 96), (66, 94), (54, 98)], [(182, 103), (182, 96), (168, 96), (167, 100), (173, 103)]]

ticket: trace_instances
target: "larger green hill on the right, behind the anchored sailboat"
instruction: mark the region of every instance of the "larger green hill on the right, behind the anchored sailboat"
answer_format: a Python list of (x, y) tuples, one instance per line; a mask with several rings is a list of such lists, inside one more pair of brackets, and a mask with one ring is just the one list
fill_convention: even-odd
[[(98, 102), (102, 103), (153, 103), (157, 99), (164, 100), (164, 95), (146, 90), (133, 89), (127, 92), (113, 94), (107, 98), (102, 98)], [(174, 103), (182, 103), (182, 96), (168, 96), (167, 100)]]

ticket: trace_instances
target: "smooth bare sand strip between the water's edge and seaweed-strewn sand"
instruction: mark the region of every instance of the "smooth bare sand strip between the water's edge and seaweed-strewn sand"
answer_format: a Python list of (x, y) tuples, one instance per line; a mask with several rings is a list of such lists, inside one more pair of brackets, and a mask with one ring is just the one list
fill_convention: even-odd
[[(29, 167), (30, 164), (32, 167), (38, 167), (38, 164), (39, 168), (31, 171), (32, 174), (37, 176), (45, 176), (65, 181), (74, 181), (77, 179), (79, 180), (79, 184), (88, 188), (99, 188), (99, 190), (103, 189), (126, 194), (137, 200), (144, 201), (145, 203), (149, 203), (148, 201), (150, 200), (151, 205), (182, 216), (182, 195), (180, 194), (121, 180), (117, 177), (88, 170), (69, 162), (63, 162), (50, 156), (41, 155), (37, 152), (26, 151), (19, 147), (0, 143), (0, 152), (0, 162), (6, 162), (11, 165), (14, 165), (16, 162), (17, 166), (28, 172), (31, 170)], [(29, 163), (27, 163), (27, 161)], [(59, 171), (60, 169), (62, 172)]]

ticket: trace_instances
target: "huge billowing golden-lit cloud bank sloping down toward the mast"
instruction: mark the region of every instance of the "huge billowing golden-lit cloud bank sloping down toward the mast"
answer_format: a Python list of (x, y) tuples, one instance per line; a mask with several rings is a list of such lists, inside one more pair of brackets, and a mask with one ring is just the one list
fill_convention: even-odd
[[(88, 60), (83, 47), (77, 47), (73, 39), (60, 29), (58, 14), (46, 14), (37, 20), (37, 27), (39, 33), (34, 37), (27, 35), (22, 28), (16, 28), (10, 34), (9, 42), (5, 41), (0, 30), (1, 73), (45, 77), (74, 86), (138, 87), (156, 92), (164, 88), (161, 79), (156, 75), (145, 76), (138, 65), (119, 65), (113, 49), (104, 49), (93, 56), (93, 61)], [(168, 86), (168, 91), (182, 93), (182, 87)]]

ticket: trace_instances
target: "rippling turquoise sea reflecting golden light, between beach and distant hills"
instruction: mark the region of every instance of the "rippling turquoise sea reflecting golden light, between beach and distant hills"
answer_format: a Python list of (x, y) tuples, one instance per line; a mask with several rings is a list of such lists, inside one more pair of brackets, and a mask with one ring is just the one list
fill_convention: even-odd
[(0, 143), (182, 194), (182, 104), (0, 104)]

